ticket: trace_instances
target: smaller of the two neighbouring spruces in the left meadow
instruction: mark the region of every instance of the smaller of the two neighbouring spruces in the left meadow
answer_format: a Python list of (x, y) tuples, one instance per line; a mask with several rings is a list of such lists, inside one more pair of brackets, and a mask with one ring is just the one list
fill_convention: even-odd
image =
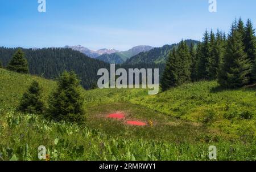
[(44, 103), (42, 101), (42, 88), (37, 81), (33, 81), (28, 91), (23, 94), (18, 109), (24, 113), (30, 114), (43, 113)]

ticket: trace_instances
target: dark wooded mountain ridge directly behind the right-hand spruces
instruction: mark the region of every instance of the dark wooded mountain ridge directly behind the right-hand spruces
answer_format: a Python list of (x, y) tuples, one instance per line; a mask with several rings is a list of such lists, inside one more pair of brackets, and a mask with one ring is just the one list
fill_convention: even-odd
[[(188, 46), (191, 46), (191, 43), (197, 45), (199, 41), (195, 40), (185, 40)], [(154, 48), (150, 51), (142, 52), (133, 57), (127, 59), (125, 62), (126, 65), (135, 65), (135, 64), (163, 64), (166, 62), (166, 59), (170, 53), (170, 50), (177, 46), (177, 44), (164, 45), (160, 48)]]

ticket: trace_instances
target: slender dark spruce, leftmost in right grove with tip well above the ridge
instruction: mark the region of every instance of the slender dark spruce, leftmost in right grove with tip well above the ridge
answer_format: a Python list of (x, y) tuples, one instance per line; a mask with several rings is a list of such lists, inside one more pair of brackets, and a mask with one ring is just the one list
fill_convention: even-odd
[(198, 64), (198, 78), (209, 79), (209, 66), (210, 66), (210, 44), (209, 33), (205, 31), (203, 37), (203, 43), (201, 45), (201, 55)]

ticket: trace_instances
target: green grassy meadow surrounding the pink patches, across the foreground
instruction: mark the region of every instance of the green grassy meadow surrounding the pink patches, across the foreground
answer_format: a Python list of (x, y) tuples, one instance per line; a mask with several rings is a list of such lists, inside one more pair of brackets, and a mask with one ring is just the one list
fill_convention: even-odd
[[(46, 146), (51, 160), (208, 160), (210, 145), (218, 160), (256, 160), (256, 90), (222, 90), (215, 81), (185, 84), (148, 96), (142, 89), (84, 91), (86, 125), (46, 121), (15, 111), (32, 80), (44, 90), (55, 82), (0, 69), (0, 153), (4, 160), (38, 160)], [(105, 118), (122, 111), (127, 126)], [(74, 139), (75, 138), (75, 139)]]

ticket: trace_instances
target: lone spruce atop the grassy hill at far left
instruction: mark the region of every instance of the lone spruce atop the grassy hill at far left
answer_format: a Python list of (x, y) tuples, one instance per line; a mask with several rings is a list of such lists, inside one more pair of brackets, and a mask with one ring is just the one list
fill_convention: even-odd
[(28, 73), (28, 63), (22, 49), (18, 49), (16, 53), (13, 55), (7, 66), (7, 69), (22, 74)]

